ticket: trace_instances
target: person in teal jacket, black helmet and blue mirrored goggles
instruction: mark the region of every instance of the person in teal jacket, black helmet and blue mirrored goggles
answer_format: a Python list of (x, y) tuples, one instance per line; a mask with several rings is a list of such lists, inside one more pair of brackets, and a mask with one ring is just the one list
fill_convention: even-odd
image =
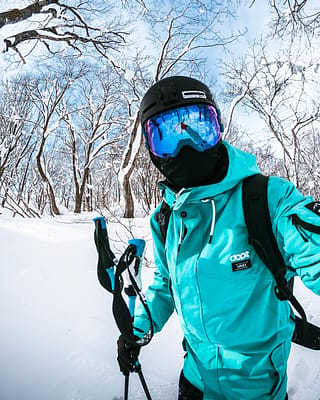
[[(155, 332), (174, 311), (179, 317), (186, 351), (179, 400), (285, 400), (292, 311), (248, 243), (242, 209), (243, 179), (260, 172), (255, 157), (222, 140), (219, 108), (196, 79), (154, 84), (140, 118), (151, 160), (166, 178), (151, 218), (156, 270), (146, 297)], [(286, 265), (320, 295), (320, 204), (270, 177), (268, 205)], [(294, 225), (293, 215), (318, 229)], [(142, 307), (134, 326), (137, 336), (148, 330)], [(133, 370), (138, 353), (120, 336), (123, 372)]]

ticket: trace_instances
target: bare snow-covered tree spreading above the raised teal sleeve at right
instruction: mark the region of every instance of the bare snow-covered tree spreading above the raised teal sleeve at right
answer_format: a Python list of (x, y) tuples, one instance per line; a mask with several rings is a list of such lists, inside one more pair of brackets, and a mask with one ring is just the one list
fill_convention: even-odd
[(305, 179), (301, 154), (307, 132), (320, 120), (314, 62), (292, 48), (271, 58), (258, 43), (240, 62), (225, 64), (230, 97), (240, 96), (242, 104), (265, 122), (283, 151), (286, 177), (298, 188)]

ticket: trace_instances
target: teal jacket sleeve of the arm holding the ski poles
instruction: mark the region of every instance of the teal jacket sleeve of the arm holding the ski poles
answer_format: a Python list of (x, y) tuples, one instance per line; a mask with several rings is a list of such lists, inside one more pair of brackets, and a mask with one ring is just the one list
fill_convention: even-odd
[[(151, 217), (151, 231), (153, 236), (156, 269), (154, 272), (153, 283), (145, 293), (155, 333), (159, 332), (163, 328), (174, 311), (174, 303), (169, 287), (169, 273), (166, 264), (164, 240), (159, 225), (155, 220), (157, 211), (158, 209)], [(134, 327), (137, 328), (134, 333), (137, 336), (143, 336), (141, 331), (146, 332), (149, 325), (149, 318), (143, 306), (139, 304), (134, 317)]]

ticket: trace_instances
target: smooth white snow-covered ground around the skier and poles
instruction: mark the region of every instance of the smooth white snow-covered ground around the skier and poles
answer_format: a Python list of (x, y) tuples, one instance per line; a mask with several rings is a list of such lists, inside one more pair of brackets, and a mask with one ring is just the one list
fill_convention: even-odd
[[(0, 210), (1, 212), (1, 210)], [(96, 277), (92, 215), (28, 220), (0, 214), (0, 399), (120, 400), (124, 378), (116, 362), (118, 331), (111, 296)], [(148, 219), (134, 234), (147, 240)], [(119, 240), (126, 233), (110, 224)], [(114, 245), (121, 249), (120, 243)], [(120, 255), (120, 253), (118, 253)], [(152, 279), (144, 268), (143, 281)], [(320, 299), (297, 285), (309, 317), (320, 323)], [(153, 400), (174, 400), (182, 367), (181, 332), (172, 317), (140, 361)], [(320, 399), (320, 352), (293, 346), (290, 400)], [(144, 399), (137, 375), (130, 399)]]

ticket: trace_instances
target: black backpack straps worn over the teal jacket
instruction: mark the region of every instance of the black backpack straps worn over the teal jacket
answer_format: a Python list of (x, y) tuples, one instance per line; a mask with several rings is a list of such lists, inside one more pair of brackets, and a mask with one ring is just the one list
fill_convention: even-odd
[[(286, 273), (293, 268), (286, 266), (272, 231), (268, 207), (268, 176), (250, 176), (243, 181), (242, 206), (248, 230), (248, 242), (270, 270), (275, 279), (275, 294), (280, 301), (289, 301), (300, 317), (292, 313), (295, 330), (292, 342), (313, 350), (320, 350), (320, 327), (307, 321), (305, 311), (293, 294), (293, 278), (287, 281)], [(161, 234), (166, 239), (170, 206), (163, 201), (155, 219)], [(258, 223), (257, 223), (258, 221)]]

